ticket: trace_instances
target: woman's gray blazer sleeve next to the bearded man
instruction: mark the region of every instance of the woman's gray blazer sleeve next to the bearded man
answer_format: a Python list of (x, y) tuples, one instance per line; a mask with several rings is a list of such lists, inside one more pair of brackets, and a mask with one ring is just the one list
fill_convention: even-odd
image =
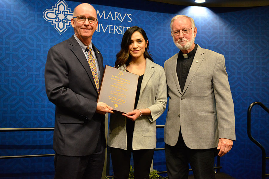
[(158, 79), (156, 80), (156, 83), (158, 82), (158, 89), (155, 96), (155, 103), (152, 106), (148, 107), (151, 112), (151, 118), (149, 118), (151, 122), (154, 122), (158, 117), (161, 116), (161, 114), (166, 108), (167, 103), (166, 78), (162, 67), (160, 67), (158, 77), (159, 78), (155, 78)]

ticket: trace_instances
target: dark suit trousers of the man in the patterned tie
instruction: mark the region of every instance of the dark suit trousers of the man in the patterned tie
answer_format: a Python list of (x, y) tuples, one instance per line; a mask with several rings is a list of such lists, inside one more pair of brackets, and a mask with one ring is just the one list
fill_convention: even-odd
[(91, 155), (66, 156), (55, 153), (54, 179), (101, 179), (106, 146), (103, 137), (100, 136), (102, 135), (99, 135), (96, 149)]

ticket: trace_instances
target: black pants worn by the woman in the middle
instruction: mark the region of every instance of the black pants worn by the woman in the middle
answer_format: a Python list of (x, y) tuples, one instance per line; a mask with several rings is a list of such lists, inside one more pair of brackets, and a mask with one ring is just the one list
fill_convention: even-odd
[(152, 163), (154, 149), (132, 150), (132, 138), (135, 123), (126, 121), (127, 129), (127, 150), (110, 147), (111, 160), (114, 172), (114, 179), (128, 179), (131, 154), (134, 159), (135, 179), (148, 179)]

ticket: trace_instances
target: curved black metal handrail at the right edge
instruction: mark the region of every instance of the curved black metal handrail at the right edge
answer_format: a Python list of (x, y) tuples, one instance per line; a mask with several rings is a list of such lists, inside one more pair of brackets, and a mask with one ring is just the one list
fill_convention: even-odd
[(247, 136), (250, 138), (250, 140), (255, 143), (261, 150), (262, 150), (262, 179), (265, 179), (265, 177), (269, 177), (269, 174), (265, 174), (265, 169), (266, 169), (266, 160), (269, 159), (269, 157), (266, 157), (266, 152), (262, 144), (260, 144), (258, 141), (256, 141), (252, 135), (251, 135), (251, 109), (253, 106), (256, 104), (260, 105), (266, 112), (269, 113), (269, 109), (265, 107), (264, 104), (261, 102), (254, 102), (251, 103), (247, 109)]

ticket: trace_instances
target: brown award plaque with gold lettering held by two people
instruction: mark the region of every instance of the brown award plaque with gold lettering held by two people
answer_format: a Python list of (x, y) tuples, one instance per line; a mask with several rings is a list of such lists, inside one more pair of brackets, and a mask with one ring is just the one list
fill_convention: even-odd
[(106, 103), (113, 107), (113, 111), (133, 111), (138, 77), (139, 75), (106, 65), (97, 102)]

